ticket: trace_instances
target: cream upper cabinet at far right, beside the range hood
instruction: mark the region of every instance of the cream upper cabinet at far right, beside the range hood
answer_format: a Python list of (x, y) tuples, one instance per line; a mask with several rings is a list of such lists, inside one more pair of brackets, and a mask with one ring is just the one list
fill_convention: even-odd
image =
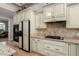
[(79, 28), (79, 4), (67, 8), (67, 28)]

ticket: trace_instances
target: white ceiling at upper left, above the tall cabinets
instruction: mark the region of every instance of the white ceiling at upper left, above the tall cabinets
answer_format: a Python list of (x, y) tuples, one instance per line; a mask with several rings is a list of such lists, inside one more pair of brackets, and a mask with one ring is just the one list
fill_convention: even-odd
[[(5, 16), (12, 18), (16, 11), (32, 7), (33, 10), (40, 11), (47, 3), (0, 3), (0, 17)], [(3, 8), (4, 7), (4, 8)]]

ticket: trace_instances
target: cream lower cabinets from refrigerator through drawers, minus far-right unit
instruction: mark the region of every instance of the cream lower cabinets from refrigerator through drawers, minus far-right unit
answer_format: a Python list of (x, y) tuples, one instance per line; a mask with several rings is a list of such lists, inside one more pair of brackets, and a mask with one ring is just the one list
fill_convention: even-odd
[[(43, 39), (33, 39), (33, 50), (47, 56), (68, 55), (68, 44), (62, 42), (48, 41)], [(35, 42), (37, 41), (37, 43)], [(54, 42), (54, 43), (52, 43)], [(56, 45), (56, 43), (59, 43)], [(62, 45), (64, 44), (64, 45)], [(35, 45), (35, 46), (34, 46)]]

